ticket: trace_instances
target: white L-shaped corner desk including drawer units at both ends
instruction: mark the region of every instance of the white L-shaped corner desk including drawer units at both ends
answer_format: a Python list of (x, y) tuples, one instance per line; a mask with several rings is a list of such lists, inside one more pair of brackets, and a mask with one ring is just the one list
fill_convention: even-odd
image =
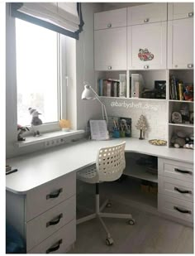
[[(193, 220), (193, 214), (182, 214), (169, 205), (183, 205), (193, 211), (191, 195), (166, 194), (167, 180), (172, 185), (193, 191), (193, 150), (153, 146), (146, 140), (119, 138), (108, 141), (83, 141), (53, 147), (22, 157), (7, 159), (18, 169), (7, 176), (7, 220), (26, 240), (28, 253), (45, 253), (56, 249), (64, 253), (76, 239), (76, 171), (96, 162), (98, 149), (126, 141), (126, 152), (158, 157), (159, 205), (164, 214), (181, 220)], [(174, 173), (174, 170), (189, 173)], [(178, 182), (178, 183), (177, 183)], [(184, 184), (184, 185), (183, 185)], [(174, 189), (173, 189), (174, 190)], [(170, 191), (169, 191), (170, 193)], [(49, 199), (48, 199), (49, 196)], [(51, 197), (50, 197), (51, 196)], [(52, 198), (54, 196), (54, 198)], [(164, 210), (164, 205), (168, 204)], [(63, 216), (63, 217), (62, 217)], [(46, 224), (49, 225), (46, 228)], [(38, 235), (39, 234), (39, 235)]]

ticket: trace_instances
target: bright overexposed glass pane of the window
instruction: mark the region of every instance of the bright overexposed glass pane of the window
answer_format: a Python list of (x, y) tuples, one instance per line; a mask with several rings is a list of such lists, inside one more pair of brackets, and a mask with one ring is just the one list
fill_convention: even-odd
[(28, 109), (43, 123), (59, 120), (58, 34), (16, 19), (17, 123), (31, 124)]

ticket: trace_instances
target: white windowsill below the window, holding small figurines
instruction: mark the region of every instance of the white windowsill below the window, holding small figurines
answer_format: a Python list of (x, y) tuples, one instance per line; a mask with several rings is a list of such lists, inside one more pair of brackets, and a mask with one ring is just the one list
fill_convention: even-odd
[(17, 147), (26, 147), (40, 142), (48, 142), (57, 138), (69, 137), (72, 135), (85, 133), (84, 130), (70, 130), (69, 132), (57, 131), (52, 133), (42, 133), (40, 137), (28, 136), (23, 142), (16, 142)]

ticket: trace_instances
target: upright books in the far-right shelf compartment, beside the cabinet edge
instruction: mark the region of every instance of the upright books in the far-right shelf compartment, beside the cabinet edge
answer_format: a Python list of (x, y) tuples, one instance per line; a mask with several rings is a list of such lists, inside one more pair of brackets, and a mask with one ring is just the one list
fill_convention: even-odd
[(183, 100), (183, 89), (183, 81), (171, 75), (169, 80), (170, 99)]

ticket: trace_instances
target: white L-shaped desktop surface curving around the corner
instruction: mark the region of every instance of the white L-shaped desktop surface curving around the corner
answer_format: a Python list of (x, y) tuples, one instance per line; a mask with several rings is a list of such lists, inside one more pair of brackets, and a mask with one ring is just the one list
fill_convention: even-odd
[(37, 186), (95, 163), (100, 147), (112, 146), (124, 141), (126, 141), (126, 152), (138, 152), (193, 163), (193, 150), (154, 146), (146, 140), (137, 138), (82, 141), (7, 159), (7, 164), (18, 169), (17, 172), (6, 176), (7, 191), (26, 194)]

